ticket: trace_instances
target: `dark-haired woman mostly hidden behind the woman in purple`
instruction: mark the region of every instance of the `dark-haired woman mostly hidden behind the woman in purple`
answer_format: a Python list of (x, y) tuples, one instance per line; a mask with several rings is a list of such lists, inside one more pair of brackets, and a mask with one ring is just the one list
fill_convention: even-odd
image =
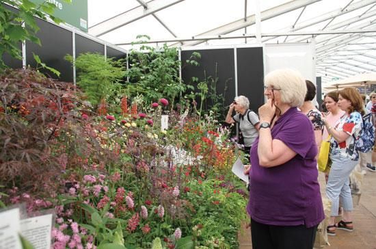
[(314, 130), (314, 140), (317, 144), (317, 151), (320, 151), (321, 139), (323, 137), (324, 122), (321, 112), (314, 107), (312, 100), (316, 96), (316, 87), (311, 81), (306, 80), (307, 93), (304, 103), (299, 107), (302, 113), (306, 114), (311, 120)]

